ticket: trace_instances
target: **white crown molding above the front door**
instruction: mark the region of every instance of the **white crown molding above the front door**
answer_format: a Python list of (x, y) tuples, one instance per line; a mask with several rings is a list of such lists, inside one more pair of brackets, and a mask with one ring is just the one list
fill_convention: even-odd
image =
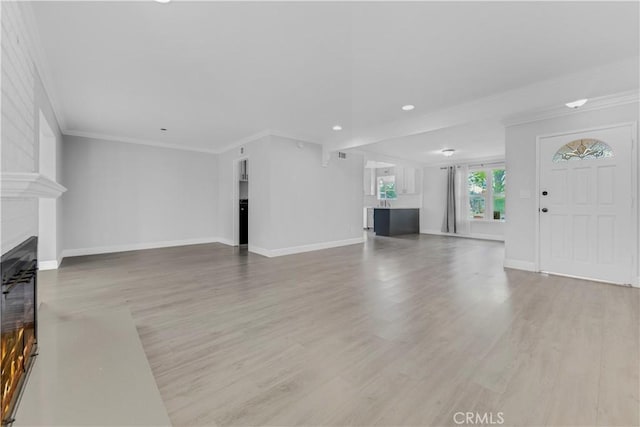
[(514, 114), (502, 120), (502, 124), (506, 127), (516, 126), (540, 120), (553, 119), (556, 117), (570, 116), (577, 113), (583, 113), (585, 111), (602, 110), (604, 108), (612, 108), (634, 103), (637, 104), (638, 102), (640, 102), (640, 93), (637, 90), (632, 90), (589, 99), (589, 101), (580, 108), (571, 109), (562, 105), (522, 114)]

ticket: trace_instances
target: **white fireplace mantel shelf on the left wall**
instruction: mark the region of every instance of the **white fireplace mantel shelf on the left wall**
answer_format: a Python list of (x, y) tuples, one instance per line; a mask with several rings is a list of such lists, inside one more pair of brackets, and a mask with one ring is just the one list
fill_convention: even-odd
[(0, 175), (2, 198), (56, 199), (67, 189), (39, 173), (3, 172)]

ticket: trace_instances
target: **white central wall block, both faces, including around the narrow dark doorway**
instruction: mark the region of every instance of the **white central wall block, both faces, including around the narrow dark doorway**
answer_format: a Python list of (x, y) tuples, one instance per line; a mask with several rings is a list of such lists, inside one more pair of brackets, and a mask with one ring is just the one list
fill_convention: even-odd
[[(244, 153), (240, 153), (240, 149)], [(265, 136), (219, 155), (220, 240), (237, 241), (238, 160), (248, 158), (249, 250), (284, 255), (362, 239), (362, 155), (332, 155), (321, 146)]]

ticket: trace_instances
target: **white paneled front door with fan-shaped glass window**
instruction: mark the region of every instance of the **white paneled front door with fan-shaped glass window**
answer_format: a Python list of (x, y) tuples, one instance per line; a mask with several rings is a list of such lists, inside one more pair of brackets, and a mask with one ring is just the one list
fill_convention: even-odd
[(539, 138), (540, 270), (631, 283), (631, 125)]

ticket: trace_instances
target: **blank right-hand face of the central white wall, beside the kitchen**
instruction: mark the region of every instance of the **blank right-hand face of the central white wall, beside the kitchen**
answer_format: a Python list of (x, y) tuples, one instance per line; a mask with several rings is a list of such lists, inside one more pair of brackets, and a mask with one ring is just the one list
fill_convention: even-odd
[(267, 249), (362, 239), (362, 154), (339, 159), (332, 153), (322, 167), (320, 145), (298, 147), (298, 141), (272, 137), (269, 155), (272, 228)]

